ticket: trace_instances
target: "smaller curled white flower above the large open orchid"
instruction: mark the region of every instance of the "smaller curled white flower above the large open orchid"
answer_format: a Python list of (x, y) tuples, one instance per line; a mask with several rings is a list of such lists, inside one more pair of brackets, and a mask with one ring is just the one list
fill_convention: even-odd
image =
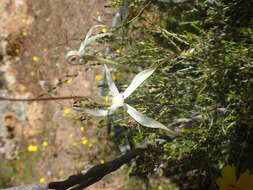
[(99, 27), (107, 27), (105, 25), (95, 25), (93, 27), (90, 28), (90, 30), (88, 31), (88, 33), (85, 36), (84, 41), (81, 43), (80, 47), (78, 50), (72, 50), (69, 51), (66, 55), (66, 60), (70, 63), (74, 62), (74, 61), (79, 61), (82, 62), (82, 56), (85, 53), (85, 49), (88, 45), (90, 45), (92, 42), (96, 41), (97, 39), (103, 38), (105, 36), (111, 36), (112, 33), (102, 33), (102, 34), (97, 34), (95, 36), (91, 36), (93, 33), (93, 30), (95, 28), (99, 28)]

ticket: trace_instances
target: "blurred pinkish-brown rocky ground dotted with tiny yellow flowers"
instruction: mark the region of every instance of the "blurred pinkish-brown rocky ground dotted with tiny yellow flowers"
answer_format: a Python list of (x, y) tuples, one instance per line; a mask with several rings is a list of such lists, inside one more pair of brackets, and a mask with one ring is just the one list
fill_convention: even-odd
[[(111, 25), (110, 0), (2, 0), (0, 2), (1, 96), (88, 96), (97, 93), (100, 67), (73, 66), (64, 57), (94, 24)], [(106, 132), (80, 122), (73, 101), (0, 102), (0, 154), (17, 164), (16, 184), (64, 179), (115, 158)], [(28, 150), (37, 147), (35, 150)], [(22, 156), (26, 154), (22, 160)], [(28, 158), (33, 158), (30, 162)], [(28, 159), (28, 160), (27, 160)], [(18, 160), (18, 162), (13, 162)], [(29, 172), (24, 178), (24, 171)], [(15, 177), (14, 177), (15, 178)], [(125, 189), (122, 170), (88, 189)], [(133, 188), (132, 188), (133, 189)]]

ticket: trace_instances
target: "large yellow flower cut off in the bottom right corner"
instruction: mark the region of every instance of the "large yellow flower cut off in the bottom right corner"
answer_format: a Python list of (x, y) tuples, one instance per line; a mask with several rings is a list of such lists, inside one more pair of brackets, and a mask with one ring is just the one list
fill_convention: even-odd
[(221, 171), (222, 177), (216, 180), (220, 190), (251, 190), (253, 187), (253, 175), (246, 170), (236, 180), (235, 166), (225, 166)]

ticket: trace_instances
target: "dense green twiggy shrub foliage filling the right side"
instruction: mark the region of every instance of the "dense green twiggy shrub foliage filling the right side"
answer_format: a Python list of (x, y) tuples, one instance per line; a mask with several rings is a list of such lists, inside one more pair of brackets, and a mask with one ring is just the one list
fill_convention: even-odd
[(130, 22), (115, 31), (122, 36), (111, 44), (120, 52), (115, 59), (136, 73), (159, 67), (129, 102), (186, 136), (172, 138), (130, 119), (114, 122), (128, 127), (132, 146), (150, 150), (131, 174), (160, 172), (180, 189), (216, 189), (225, 165), (234, 164), (238, 175), (252, 171), (253, 3), (136, 0), (131, 8)]

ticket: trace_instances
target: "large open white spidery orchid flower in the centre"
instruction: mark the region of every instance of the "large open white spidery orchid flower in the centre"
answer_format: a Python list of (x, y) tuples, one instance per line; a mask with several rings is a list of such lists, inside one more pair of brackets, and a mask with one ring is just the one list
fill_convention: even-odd
[(138, 112), (135, 108), (125, 103), (125, 99), (128, 98), (152, 73), (156, 70), (156, 68), (150, 68), (146, 69), (139, 74), (137, 74), (134, 79), (132, 80), (131, 84), (127, 87), (127, 89), (124, 92), (119, 92), (118, 88), (116, 87), (114, 81), (112, 80), (112, 76), (110, 74), (109, 69), (106, 65), (105, 72), (106, 72), (106, 79), (109, 86), (109, 94), (112, 97), (111, 98), (111, 105), (108, 109), (87, 109), (87, 108), (75, 108), (77, 111), (85, 112), (94, 116), (108, 116), (112, 115), (116, 112), (117, 109), (120, 107), (123, 107), (126, 112), (139, 124), (150, 127), (150, 128), (160, 128), (164, 129), (166, 131), (169, 131), (172, 134), (178, 135), (176, 132), (168, 129), (166, 126), (164, 126), (162, 123), (147, 117), (146, 115)]

